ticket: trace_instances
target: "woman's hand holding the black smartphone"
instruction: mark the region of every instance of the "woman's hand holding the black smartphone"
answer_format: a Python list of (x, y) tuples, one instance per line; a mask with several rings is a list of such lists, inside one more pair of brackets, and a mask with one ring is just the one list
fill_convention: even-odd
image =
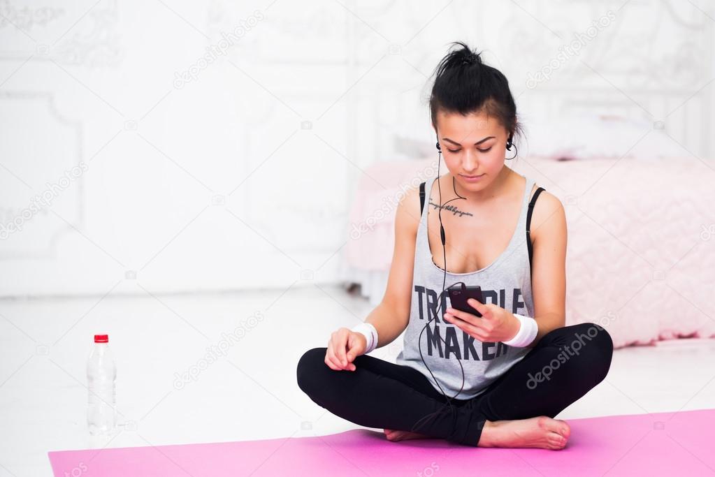
[(509, 341), (516, 336), (521, 323), (512, 313), (494, 303), (480, 303), (474, 298), (469, 298), (467, 303), (482, 314), (481, 318), (450, 307), (444, 315), (445, 321), (487, 343)]

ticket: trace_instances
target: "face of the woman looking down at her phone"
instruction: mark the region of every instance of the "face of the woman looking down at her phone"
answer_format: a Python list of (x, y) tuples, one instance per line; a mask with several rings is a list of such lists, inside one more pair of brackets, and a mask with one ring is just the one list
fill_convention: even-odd
[(465, 189), (487, 188), (503, 169), (508, 133), (497, 119), (439, 111), (437, 136), (447, 169)]

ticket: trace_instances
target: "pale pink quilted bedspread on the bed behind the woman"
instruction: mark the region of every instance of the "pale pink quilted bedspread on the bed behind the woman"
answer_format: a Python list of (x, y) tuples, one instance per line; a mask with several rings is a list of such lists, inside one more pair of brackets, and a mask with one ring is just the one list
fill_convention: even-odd
[[(350, 211), (349, 266), (389, 270), (400, 184), (436, 176), (434, 161), (386, 162), (366, 171), (386, 189), (367, 176), (358, 186)], [(715, 161), (710, 164), (715, 168)], [(567, 324), (599, 323), (616, 347), (715, 336), (713, 169), (692, 156), (530, 157), (511, 167), (566, 208)]]

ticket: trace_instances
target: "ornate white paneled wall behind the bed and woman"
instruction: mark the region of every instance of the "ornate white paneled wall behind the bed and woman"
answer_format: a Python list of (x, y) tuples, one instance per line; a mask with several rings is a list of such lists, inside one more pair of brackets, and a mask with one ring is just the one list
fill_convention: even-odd
[(713, 4), (623, 3), (0, 4), (0, 295), (335, 281), (363, 169), (433, 151), (428, 76), (455, 40), (527, 126), (618, 111), (715, 156)]

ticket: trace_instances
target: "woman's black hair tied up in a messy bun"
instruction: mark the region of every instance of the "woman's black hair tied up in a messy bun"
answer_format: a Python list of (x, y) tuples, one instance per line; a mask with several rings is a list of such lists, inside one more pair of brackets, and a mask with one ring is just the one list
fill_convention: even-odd
[(442, 110), (460, 114), (484, 112), (498, 119), (511, 136), (523, 134), (506, 76), (483, 64), (480, 54), (463, 42), (453, 41), (452, 44), (461, 48), (450, 51), (434, 73), (430, 115), (435, 130), (437, 113)]

